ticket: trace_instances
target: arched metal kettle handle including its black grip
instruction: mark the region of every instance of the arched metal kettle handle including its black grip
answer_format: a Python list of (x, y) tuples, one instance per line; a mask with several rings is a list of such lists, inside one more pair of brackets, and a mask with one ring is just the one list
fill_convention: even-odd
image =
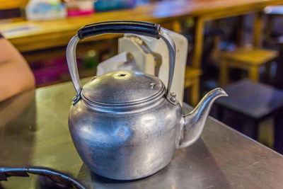
[(76, 101), (79, 101), (79, 99), (81, 98), (82, 90), (78, 67), (76, 65), (76, 45), (78, 44), (79, 40), (105, 33), (132, 33), (137, 35), (145, 35), (156, 39), (162, 38), (164, 40), (169, 53), (169, 77), (166, 98), (171, 101), (170, 90), (173, 81), (176, 50), (175, 43), (166, 33), (166, 30), (161, 28), (161, 26), (156, 23), (147, 23), (140, 21), (109, 21), (83, 26), (81, 29), (79, 29), (78, 34), (71, 38), (67, 46), (67, 63), (71, 75), (71, 81), (73, 81), (74, 88), (76, 89), (76, 97), (73, 99), (74, 103), (76, 103)]

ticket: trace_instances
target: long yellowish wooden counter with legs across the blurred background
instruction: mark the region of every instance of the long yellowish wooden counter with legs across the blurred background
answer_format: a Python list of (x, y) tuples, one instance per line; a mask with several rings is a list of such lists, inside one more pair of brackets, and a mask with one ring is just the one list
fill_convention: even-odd
[[(42, 50), (50, 47), (67, 45), (82, 25), (101, 21), (135, 20), (150, 21), (154, 23), (173, 22), (175, 31), (180, 32), (182, 19), (188, 16), (196, 18), (195, 47), (192, 55), (192, 64), (200, 67), (204, 22), (212, 19), (240, 16), (247, 13), (256, 13), (254, 45), (260, 45), (262, 20), (260, 11), (265, 6), (279, 4), (279, 0), (188, 0), (163, 1), (148, 6), (122, 11), (95, 13), (91, 16), (65, 18), (56, 21), (24, 21), (0, 25), (0, 31), (8, 40), (11, 40), (21, 52)], [(106, 38), (100, 36), (96, 39)]]

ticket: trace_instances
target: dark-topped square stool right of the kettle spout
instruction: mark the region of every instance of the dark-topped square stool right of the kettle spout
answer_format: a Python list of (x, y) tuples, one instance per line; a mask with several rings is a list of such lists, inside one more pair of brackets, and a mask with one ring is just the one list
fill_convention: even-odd
[[(229, 96), (216, 100), (217, 119), (226, 122), (227, 125), (231, 125), (240, 132), (247, 131), (247, 128), (242, 127), (245, 123), (252, 123), (250, 125), (253, 127), (248, 128), (251, 130), (250, 134), (245, 134), (254, 139), (258, 139), (260, 122), (266, 118), (274, 118), (274, 115), (283, 108), (283, 91), (272, 86), (242, 80), (225, 87), (224, 90)], [(231, 113), (232, 117), (238, 120), (225, 121), (224, 117), (227, 117), (227, 114), (224, 115), (224, 113)], [(283, 134), (283, 127), (276, 130), (277, 135), (279, 132)]]

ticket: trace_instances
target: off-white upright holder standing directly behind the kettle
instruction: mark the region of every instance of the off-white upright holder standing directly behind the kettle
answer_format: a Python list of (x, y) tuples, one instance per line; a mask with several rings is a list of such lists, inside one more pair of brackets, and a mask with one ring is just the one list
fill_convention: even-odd
[[(180, 101), (180, 105), (183, 105), (184, 96), (184, 84), (185, 84), (185, 66), (187, 63), (187, 38), (178, 33), (174, 33), (171, 30), (165, 30), (166, 33), (175, 42), (176, 57), (175, 57), (175, 70), (172, 83), (172, 91), (176, 93)], [(140, 45), (137, 44), (137, 40), (130, 38), (132, 34), (125, 34), (124, 37), (118, 41), (118, 53), (129, 52), (133, 55), (136, 63), (137, 70), (143, 71), (146, 74), (154, 75), (154, 56), (151, 53), (144, 52)], [(165, 85), (168, 84), (168, 50), (163, 40), (156, 40), (143, 35), (134, 35), (137, 38), (143, 40), (152, 52), (156, 52), (162, 57), (161, 67), (158, 71), (158, 78), (163, 81)]]

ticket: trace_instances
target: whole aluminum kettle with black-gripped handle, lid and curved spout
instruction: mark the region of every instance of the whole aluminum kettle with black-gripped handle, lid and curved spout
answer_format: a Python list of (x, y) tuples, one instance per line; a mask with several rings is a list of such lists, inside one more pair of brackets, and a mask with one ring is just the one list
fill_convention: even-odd
[[(76, 45), (103, 33), (132, 33), (163, 39), (169, 52), (167, 88), (156, 76), (139, 71), (113, 71), (93, 77), (83, 88), (76, 66)], [(160, 25), (110, 21), (85, 25), (69, 42), (67, 62), (76, 96), (69, 130), (81, 159), (91, 171), (117, 180), (150, 176), (171, 161), (175, 149), (190, 146), (202, 133), (221, 88), (207, 93), (195, 110), (182, 115), (171, 91), (175, 44)]]

